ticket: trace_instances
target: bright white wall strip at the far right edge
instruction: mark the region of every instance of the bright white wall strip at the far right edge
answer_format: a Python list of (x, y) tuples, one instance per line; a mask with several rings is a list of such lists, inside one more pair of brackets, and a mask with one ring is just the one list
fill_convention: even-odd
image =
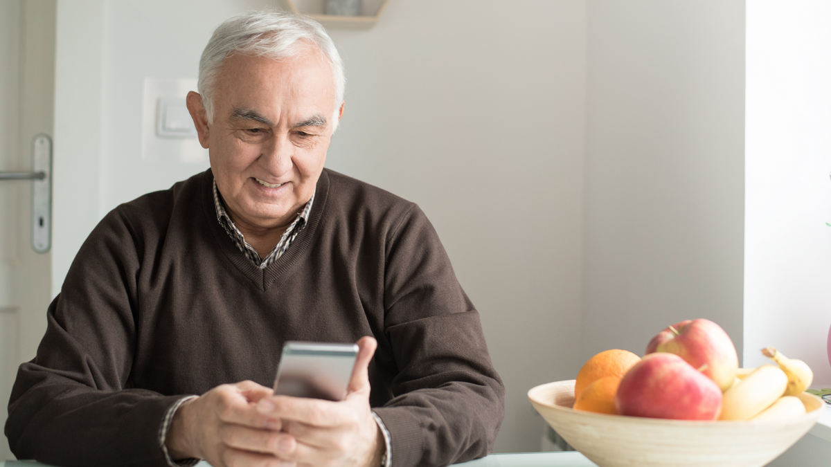
[(831, 386), (831, 4), (747, 5), (745, 365), (762, 347)]

